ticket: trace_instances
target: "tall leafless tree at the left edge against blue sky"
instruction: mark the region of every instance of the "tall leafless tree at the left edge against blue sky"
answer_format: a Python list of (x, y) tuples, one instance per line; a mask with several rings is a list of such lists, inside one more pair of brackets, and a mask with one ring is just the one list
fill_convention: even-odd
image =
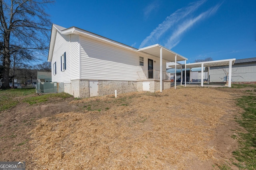
[(23, 50), (26, 56), (36, 59), (38, 50), (44, 52), (48, 48), (51, 22), (44, 9), (49, 3), (52, 0), (0, 0), (2, 89), (9, 88), (10, 58), (14, 52)]

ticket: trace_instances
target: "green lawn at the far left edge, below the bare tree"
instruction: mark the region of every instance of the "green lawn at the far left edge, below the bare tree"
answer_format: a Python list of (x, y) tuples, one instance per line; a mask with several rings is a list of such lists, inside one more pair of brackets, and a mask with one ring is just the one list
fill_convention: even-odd
[(35, 89), (7, 89), (0, 91), (0, 111), (15, 107), (22, 101), (22, 96), (34, 94)]

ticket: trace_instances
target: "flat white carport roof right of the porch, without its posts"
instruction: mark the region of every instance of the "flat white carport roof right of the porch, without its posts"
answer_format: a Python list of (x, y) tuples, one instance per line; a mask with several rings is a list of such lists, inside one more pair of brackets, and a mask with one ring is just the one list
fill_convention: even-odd
[[(232, 61), (232, 65), (233, 65), (235, 63), (236, 59), (233, 58), (233, 59), (222, 59), (222, 60), (215, 60), (215, 61), (204, 61), (204, 62), (198, 62), (198, 63), (188, 63), (188, 64), (186, 64), (186, 68), (202, 67), (202, 64), (204, 64), (204, 67), (229, 65), (229, 61)], [(182, 66), (184, 66), (184, 65), (185, 64), (182, 64)], [(169, 67), (174, 68), (175, 65), (169, 65)]]

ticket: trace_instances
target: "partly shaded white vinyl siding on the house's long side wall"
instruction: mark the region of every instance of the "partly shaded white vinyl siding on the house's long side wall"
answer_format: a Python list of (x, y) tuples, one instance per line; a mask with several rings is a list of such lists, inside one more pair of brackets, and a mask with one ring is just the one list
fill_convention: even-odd
[(136, 81), (139, 56), (95, 40), (80, 37), (81, 79)]

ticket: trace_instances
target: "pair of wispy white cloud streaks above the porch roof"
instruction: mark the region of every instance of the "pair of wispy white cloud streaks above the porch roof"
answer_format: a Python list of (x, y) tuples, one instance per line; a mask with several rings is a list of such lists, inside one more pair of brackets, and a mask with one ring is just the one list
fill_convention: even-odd
[[(189, 6), (176, 10), (174, 13), (168, 16), (161, 24), (159, 24), (158, 27), (156, 27), (156, 29), (154, 29), (150, 33), (150, 35), (142, 41), (139, 48), (146, 45), (159, 43), (159, 39), (163, 36), (166, 36), (166, 33), (170, 33), (170, 31), (172, 31), (172, 34), (170, 34), (171, 36), (169, 37), (166, 36), (167, 39), (164, 40), (166, 42), (164, 46), (168, 48), (176, 46), (181, 40), (182, 33), (191, 28), (196, 22), (214, 14), (221, 5), (218, 4), (213, 8), (210, 8), (206, 12), (203, 12), (202, 14), (196, 16), (195, 18), (191, 18), (190, 16), (192, 15), (192, 13), (195, 12), (206, 1), (207, 0), (200, 0), (191, 3)], [(174, 25), (177, 28), (176, 30), (172, 28)]]

